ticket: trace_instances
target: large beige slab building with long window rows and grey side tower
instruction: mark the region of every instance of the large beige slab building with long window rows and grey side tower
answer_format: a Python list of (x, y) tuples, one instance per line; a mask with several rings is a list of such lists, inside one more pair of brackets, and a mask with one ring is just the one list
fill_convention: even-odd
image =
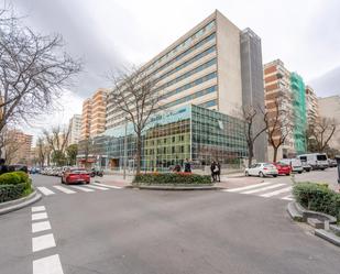
[[(243, 105), (263, 106), (261, 40), (250, 29), (241, 31), (217, 10), (142, 69), (156, 80), (161, 105), (168, 111), (196, 105), (242, 118)], [(110, 96), (108, 134), (124, 124), (124, 114), (114, 108)], [(255, 147), (257, 161), (266, 158), (261, 147), (264, 143), (261, 136)]]

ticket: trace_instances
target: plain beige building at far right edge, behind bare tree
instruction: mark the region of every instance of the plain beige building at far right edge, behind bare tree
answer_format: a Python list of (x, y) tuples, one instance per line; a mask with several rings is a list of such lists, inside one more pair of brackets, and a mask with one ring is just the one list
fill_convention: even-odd
[(334, 119), (337, 130), (329, 141), (329, 146), (340, 150), (340, 96), (318, 98), (320, 118)]

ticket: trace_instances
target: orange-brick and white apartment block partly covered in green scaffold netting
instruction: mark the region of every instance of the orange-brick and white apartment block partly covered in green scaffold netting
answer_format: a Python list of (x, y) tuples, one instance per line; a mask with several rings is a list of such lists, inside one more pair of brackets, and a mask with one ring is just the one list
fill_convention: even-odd
[[(277, 158), (304, 153), (306, 151), (307, 116), (303, 78), (296, 73), (290, 73), (281, 59), (276, 59), (264, 65), (264, 88), (265, 107), (268, 113), (275, 114), (275, 101), (277, 101), (278, 111), (285, 110), (285, 114), (281, 114), (279, 121), (287, 124), (287, 119), (293, 118), (290, 120), (292, 130), (275, 133), (277, 139), (282, 134), (287, 134), (284, 144), (278, 150)], [(273, 158), (271, 145), (268, 145), (268, 157), (270, 160)]]

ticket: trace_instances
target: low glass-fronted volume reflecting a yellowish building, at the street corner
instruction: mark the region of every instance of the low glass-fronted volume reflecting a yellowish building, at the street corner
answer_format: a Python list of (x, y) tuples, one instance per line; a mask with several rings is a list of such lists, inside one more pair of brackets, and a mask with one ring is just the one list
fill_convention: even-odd
[[(79, 145), (79, 157), (87, 154), (105, 169), (122, 168), (127, 140), (127, 163), (134, 167), (135, 134), (127, 123), (107, 130), (86, 145)], [(238, 163), (248, 156), (243, 122), (237, 118), (188, 105), (168, 110), (151, 118), (143, 132), (142, 169), (168, 171), (183, 165), (186, 158), (199, 167), (210, 165), (212, 160), (221, 164)]]

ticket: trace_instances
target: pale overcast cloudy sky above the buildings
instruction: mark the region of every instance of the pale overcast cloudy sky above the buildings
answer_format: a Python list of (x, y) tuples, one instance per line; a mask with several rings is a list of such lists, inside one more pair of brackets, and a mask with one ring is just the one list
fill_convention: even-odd
[[(4, 0), (2, 0), (4, 1)], [(25, 127), (37, 134), (47, 124), (66, 123), (81, 113), (81, 102), (108, 75), (142, 65), (216, 9), (241, 30), (262, 39), (263, 63), (279, 58), (297, 72), (317, 96), (340, 95), (340, 1), (338, 0), (6, 0), (25, 23), (61, 33), (66, 50), (85, 61), (74, 87), (65, 90), (58, 111)]]

